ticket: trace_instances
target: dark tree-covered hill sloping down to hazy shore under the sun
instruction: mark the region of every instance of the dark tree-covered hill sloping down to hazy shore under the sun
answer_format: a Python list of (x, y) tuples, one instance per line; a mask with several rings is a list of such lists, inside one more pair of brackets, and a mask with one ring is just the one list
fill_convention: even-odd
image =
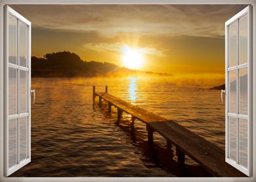
[(75, 53), (62, 51), (48, 53), (44, 58), (31, 57), (32, 77), (123, 77), (134, 75), (161, 75), (167, 73), (130, 70), (109, 62), (84, 61)]

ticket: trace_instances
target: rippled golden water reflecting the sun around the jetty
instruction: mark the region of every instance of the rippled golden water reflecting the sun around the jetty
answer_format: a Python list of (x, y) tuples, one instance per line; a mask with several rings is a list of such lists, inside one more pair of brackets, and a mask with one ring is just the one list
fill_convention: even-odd
[(175, 148), (168, 149), (159, 135), (148, 146), (146, 125), (124, 114), (116, 123), (111, 115), (92, 104), (92, 86), (178, 120), (191, 131), (225, 149), (225, 105), (219, 90), (209, 85), (178, 83), (172, 77), (33, 78), (37, 91), (32, 105), (32, 162), (12, 176), (27, 177), (140, 177), (209, 176), (186, 157), (185, 169), (176, 162)]

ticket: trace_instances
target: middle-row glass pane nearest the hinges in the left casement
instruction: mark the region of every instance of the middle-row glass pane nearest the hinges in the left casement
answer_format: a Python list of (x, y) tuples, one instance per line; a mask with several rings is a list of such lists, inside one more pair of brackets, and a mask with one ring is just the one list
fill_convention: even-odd
[(18, 114), (17, 110), (17, 70), (8, 69), (8, 114)]

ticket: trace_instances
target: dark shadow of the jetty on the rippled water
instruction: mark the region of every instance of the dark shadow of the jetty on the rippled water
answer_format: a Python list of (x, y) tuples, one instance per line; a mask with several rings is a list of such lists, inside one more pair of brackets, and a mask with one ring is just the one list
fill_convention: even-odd
[[(168, 147), (167, 144), (163, 144), (163, 141), (159, 140), (154, 140), (154, 142), (150, 144), (147, 138), (146, 124), (144, 128), (136, 125), (136, 122), (140, 122), (138, 120), (135, 120), (135, 123), (132, 124), (128, 114), (118, 122), (116, 109), (112, 109), (112, 112), (108, 113), (108, 104), (106, 101), (103, 101), (101, 104), (97, 102), (93, 103), (94, 110), (96, 107), (104, 113), (106, 118), (112, 120), (117, 127), (120, 127), (126, 135), (131, 137), (133, 146), (138, 148), (144, 156), (144, 158), (140, 159), (144, 163), (144, 166), (148, 168), (162, 168), (177, 177), (212, 177), (212, 174), (199, 164), (185, 164), (184, 166), (180, 166), (175, 155), (175, 146)], [(97, 112), (99, 112), (99, 110), (97, 110)], [(154, 133), (154, 135), (157, 134)], [(187, 159), (189, 157), (186, 155), (185, 158)]]

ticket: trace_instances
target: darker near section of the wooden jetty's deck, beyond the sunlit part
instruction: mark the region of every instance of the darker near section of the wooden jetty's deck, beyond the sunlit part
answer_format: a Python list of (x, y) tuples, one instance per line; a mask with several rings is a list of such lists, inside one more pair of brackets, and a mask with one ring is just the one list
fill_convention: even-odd
[(213, 175), (222, 177), (246, 177), (225, 162), (225, 151), (189, 131), (175, 121), (151, 122), (154, 131), (160, 133), (180, 151), (189, 155)]

